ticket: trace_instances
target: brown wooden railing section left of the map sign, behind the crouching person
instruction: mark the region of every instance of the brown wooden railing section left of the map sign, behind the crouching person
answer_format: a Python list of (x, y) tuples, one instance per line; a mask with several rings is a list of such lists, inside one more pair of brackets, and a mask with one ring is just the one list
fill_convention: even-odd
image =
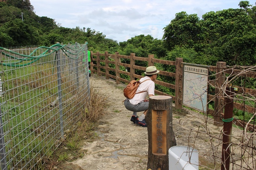
[[(100, 59), (101, 56), (104, 56), (105, 59)], [(111, 59), (114, 59), (114, 61), (111, 61), (109, 57)], [(130, 64), (122, 63), (121, 58), (129, 59)], [(175, 77), (175, 84), (179, 84), (180, 85), (179, 88), (180, 89), (182, 88), (182, 74), (183, 74), (183, 69), (181, 65), (181, 63), (183, 62), (182, 58), (177, 58), (176, 61), (167, 61), (167, 60), (161, 60), (161, 59), (154, 59), (154, 55), (148, 55), (148, 58), (145, 58), (145, 57), (136, 57), (134, 53), (131, 53), (130, 56), (125, 56), (125, 55), (120, 55), (118, 52), (116, 52), (115, 54), (108, 54), (107, 52), (105, 52), (105, 54), (100, 54), (99, 52), (93, 53), (91, 51), (91, 61), (92, 61), (91, 72), (92, 74), (97, 73), (99, 75), (105, 75), (106, 79), (109, 79), (109, 78), (115, 79), (116, 84), (119, 84), (120, 82), (129, 83), (130, 80), (121, 78), (120, 74), (125, 74), (129, 76), (131, 80), (140, 79), (142, 78), (142, 76), (135, 74), (135, 69), (142, 70), (142, 71), (146, 70), (146, 67), (135, 65), (135, 60), (147, 61), (148, 66), (154, 65), (154, 63), (160, 63), (160, 64), (166, 64), (166, 65), (176, 65), (176, 63), (178, 63), (179, 66), (177, 67), (176, 65), (176, 73), (179, 73), (179, 74), (171, 73), (168, 71), (160, 71), (159, 74), (165, 75), (168, 77)], [(100, 62), (104, 62), (105, 66), (100, 65)], [(110, 68), (109, 64), (114, 64), (115, 68)], [(125, 68), (130, 68), (130, 72), (120, 70), (120, 66), (124, 66)], [(103, 72), (101, 68), (104, 69), (105, 72)], [(116, 75), (109, 74), (109, 71), (114, 71)], [(162, 85), (166, 88), (177, 90), (175, 89), (176, 88), (175, 85), (167, 82), (155, 80), (155, 83), (158, 85)], [(155, 94), (172, 96), (157, 90), (155, 90)], [(182, 91), (181, 90), (177, 92), (175, 91), (175, 96), (172, 96), (172, 98), (175, 101), (175, 108), (181, 109), (182, 108)]]

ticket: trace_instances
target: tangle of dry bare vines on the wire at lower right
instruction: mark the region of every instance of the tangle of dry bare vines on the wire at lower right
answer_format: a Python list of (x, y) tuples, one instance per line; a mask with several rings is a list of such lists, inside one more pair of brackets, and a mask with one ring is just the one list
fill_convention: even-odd
[[(239, 71), (237, 71), (239, 70)], [(227, 71), (231, 72), (231, 74), (225, 74)], [(238, 119), (233, 120), (233, 128), (232, 128), (232, 135), (231, 135), (231, 143), (229, 145), (230, 149), (230, 170), (253, 170), (256, 169), (256, 139), (255, 134), (256, 131), (254, 130), (254, 119), (256, 115), (256, 90), (251, 90), (253, 93), (246, 93), (246, 88), (242, 81), (243, 78), (246, 78), (246, 75), (248, 73), (255, 75), (256, 74), (256, 66), (248, 67), (248, 66), (234, 66), (234, 67), (226, 67), (224, 71), (221, 72), (221, 75), (225, 77), (225, 81), (222, 85), (216, 85), (216, 79), (215, 81), (209, 81), (209, 86), (214, 87), (215, 89), (218, 88), (218, 93), (215, 94), (214, 98), (209, 101), (214, 101), (216, 97), (221, 98), (229, 98), (233, 99), (234, 102), (244, 104), (244, 111), (246, 109), (245, 102), (248, 103), (248, 105), (252, 106), (254, 108), (254, 113), (252, 113), (250, 119), (246, 121), (246, 125), (244, 127), (237, 126), (234, 122), (238, 121)], [(220, 74), (220, 73), (218, 73)], [(216, 74), (215, 74), (216, 75)], [(211, 76), (215, 76), (211, 75)], [(223, 78), (222, 77), (222, 78)], [(244, 79), (245, 79), (244, 78)], [(255, 77), (254, 77), (255, 78)], [(241, 82), (241, 91), (242, 93), (236, 93), (235, 95), (228, 95), (226, 88), (232, 86), (233, 82)], [(255, 79), (254, 79), (255, 81)], [(221, 108), (223, 109), (223, 108)], [(198, 111), (204, 112), (204, 111)], [(191, 117), (198, 116), (198, 113), (192, 114)], [(234, 115), (233, 115), (234, 117)], [(189, 122), (189, 118), (186, 119), (183, 122), (180, 122), (181, 125), (185, 125)], [(209, 170), (218, 170), (221, 169), (221, 164), (224, 164), (223, 161), (221, 161), (222, 157), (222, 144), (223, 144), (223, 128), (222, 127), (215, 127), (209, 126), (212, 125), (212, 122), (214, 122), (214, 118), (212, 116), (209, 116), (207, 114), (204, 114), (201, 116), (201, 120), (203, 123), (198, 125), (198, 128), (191, 128), (187, 129), (190, 130), (190, 134), (188, 136), (188, 141), (190, 147), (196, 147), (196, 142), (200, 141), (201, 139), (199, 136), (204, 136), (204, 140), (209, 140), (209, 145), (207, 151), (200, 151), (198, 150), (199, 156), (204, 157), (205, 159), (208, 159), (210, 162), (212, 162), (212, 166), (205, 166), (204, 169)], [(244, 121), (244, 120), (242, 120)], [(248, 127), (253, 127), (253, 130), (248, 130)], [(199, 165), (202, 167), (202, 164), (199, 162)], [(225, 166), (224, 166), (225, 167)]]

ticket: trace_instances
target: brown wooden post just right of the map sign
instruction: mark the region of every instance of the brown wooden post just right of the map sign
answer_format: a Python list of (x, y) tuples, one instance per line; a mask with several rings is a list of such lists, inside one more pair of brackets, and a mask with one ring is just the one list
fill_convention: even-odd
[(220, 93), (220, 88), (225, 82), (225, 74), (223, 68), (226, 66), (226, 62), (217, 62), (216, 64), (216, 85), (215, 85), (215, 101), (214, 101), (214, 125), (222, 126), (222, 116), (224, 109), (224, 96)]

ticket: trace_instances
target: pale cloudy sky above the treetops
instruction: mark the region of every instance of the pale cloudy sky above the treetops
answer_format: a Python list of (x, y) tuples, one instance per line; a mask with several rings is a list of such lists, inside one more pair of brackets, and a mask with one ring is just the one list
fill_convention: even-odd
[[(34, 12), (66, 28), (90, 28), (117, 42), (141, 34), (161, 40), (164, 27), (185, 11), (200, 19), (209, 11), (240, 8), (241, 0), (30, 0)], [(255, 1), (249, 1), (254, 5)]]

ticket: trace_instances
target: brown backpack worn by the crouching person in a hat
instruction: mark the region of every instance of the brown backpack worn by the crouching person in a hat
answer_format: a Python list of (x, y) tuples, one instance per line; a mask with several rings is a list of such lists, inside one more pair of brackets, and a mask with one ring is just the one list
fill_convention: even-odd
[[(149, 79), (144, 80), (143, 82), (147, 81)], [(131, 80), (131, 82), (129, 82), (129, 84), (126, 86), (126, 88), (124, 88), (124, 96), (127, 99), (132, 99), (134, 97), (135, 94), (139, 94), (139, 93), (143, 93), (145, 91), (141, 91), (139, 93), (136, 93), (137, 88), (139, 87), (139, 85), (143, 82), (136, 81), (136, 80)]]

